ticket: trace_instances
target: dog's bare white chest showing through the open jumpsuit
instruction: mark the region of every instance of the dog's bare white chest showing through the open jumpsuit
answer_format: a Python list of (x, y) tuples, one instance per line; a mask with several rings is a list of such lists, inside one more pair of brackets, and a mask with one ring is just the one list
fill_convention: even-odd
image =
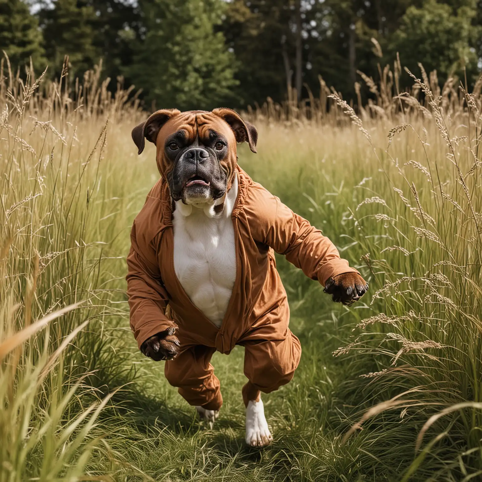
[(174, 271), (192, 303), (220, 327), (236, 281), (236, 249), (231, 218), (238, 183), (229, 189), (219, 216), (193, 207), (174, 211)]

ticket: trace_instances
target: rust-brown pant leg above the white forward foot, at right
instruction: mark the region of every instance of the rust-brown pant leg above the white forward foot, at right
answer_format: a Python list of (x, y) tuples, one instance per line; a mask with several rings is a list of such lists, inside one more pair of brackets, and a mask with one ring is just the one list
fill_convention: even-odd
[(248, 383), (242, 388), (244, 404), (259, 400), (259, 392), (269, 393), (286, 385), (295, 375), (301, 357), (301, 345), (289, 329), (279, 340), (247, 340), (244, 346), (244, 375)]

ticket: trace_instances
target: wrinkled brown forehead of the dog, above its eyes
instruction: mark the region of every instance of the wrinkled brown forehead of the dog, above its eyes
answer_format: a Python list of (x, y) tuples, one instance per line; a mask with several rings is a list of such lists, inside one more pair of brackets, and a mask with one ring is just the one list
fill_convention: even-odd
[(226, 121), (207, 111), (188, 111), (168, 120), (159, 131), (156, 146), (162, 154), (167, 139), (173, 135), (178, 137), (185, 146), (196, 142), (204, 144), (212, 140), (216, 134), (226, 139), (229, 149), (236, 150), (234, 132)]

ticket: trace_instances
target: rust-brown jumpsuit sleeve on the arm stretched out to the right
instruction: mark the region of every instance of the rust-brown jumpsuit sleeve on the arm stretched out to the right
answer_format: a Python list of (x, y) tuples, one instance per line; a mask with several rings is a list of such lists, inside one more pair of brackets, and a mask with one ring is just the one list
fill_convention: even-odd
[(259, 213), (261, 236), (277, 253), (301, 268), (311, 279), (318, 280), (324, 286), (328, 278), (339, 274), (358, 271), (340, 257), (335, 245), (321, 231), (295, 214), (276, 196), (266, 189), (259, 193)]

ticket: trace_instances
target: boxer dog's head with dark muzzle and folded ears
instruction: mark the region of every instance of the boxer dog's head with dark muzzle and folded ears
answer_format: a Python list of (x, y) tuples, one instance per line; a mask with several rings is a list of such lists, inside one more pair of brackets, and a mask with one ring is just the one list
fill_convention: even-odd
[(132, 138), (144, 150), (157, 149), (157, 165), (171, 197), (183, 204), (222, 202), (236, 175), (236, 143), (256, 152), (256, 128), (228, 108), (212, 112), (161, 109), (134, 127)]

